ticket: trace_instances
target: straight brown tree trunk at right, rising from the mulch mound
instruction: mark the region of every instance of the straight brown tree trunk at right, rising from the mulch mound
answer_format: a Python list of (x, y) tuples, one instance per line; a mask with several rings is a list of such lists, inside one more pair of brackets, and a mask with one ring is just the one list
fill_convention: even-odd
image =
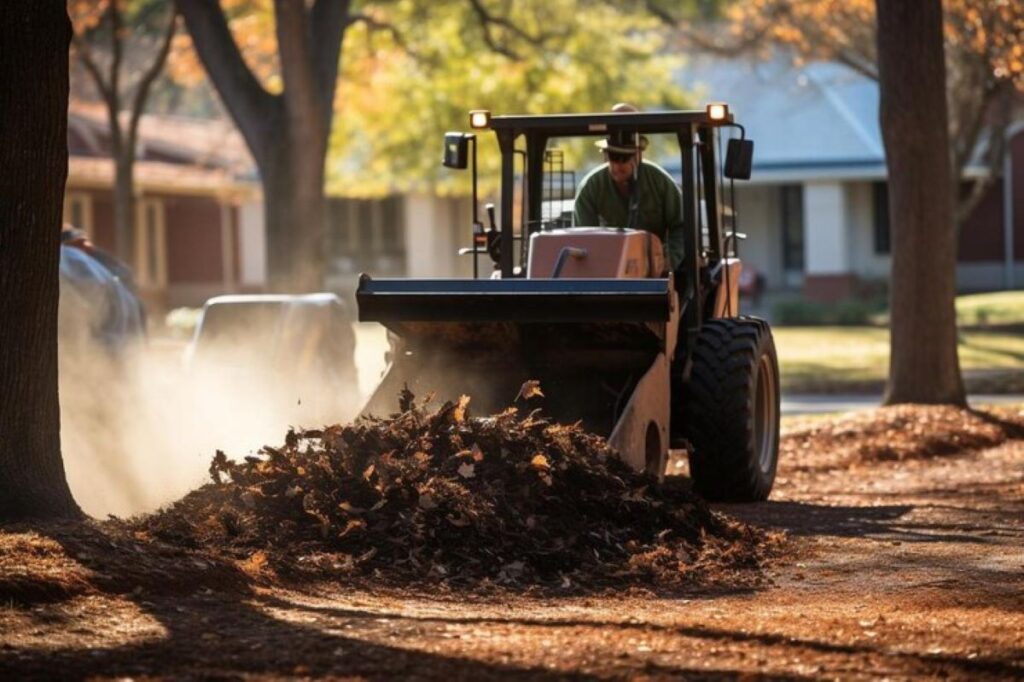
[(965, 404), (940, 0), (877, 0), (893, 258), (887, 404)]

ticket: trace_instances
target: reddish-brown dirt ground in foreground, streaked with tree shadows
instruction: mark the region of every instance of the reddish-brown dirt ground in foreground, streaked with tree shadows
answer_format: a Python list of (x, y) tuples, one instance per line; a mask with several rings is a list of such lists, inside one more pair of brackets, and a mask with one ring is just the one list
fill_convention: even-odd
[(1024, 440), (903, 462), (806, 449), (756, 590), (467, 597), (321, 588), (0, 605), (0, 677), (1024, 678)]

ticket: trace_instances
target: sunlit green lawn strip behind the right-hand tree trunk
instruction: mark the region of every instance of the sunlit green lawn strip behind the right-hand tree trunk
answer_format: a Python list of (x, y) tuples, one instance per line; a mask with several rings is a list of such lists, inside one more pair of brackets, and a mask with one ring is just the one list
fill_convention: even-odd
[[(772, 330), (782, 387), (843, 390), (885, 382), (889, 330), (874, 327), (778, 327)], [(1024, 373), (1024, 335), (998, 331), (961, 333), (961, 369)]]

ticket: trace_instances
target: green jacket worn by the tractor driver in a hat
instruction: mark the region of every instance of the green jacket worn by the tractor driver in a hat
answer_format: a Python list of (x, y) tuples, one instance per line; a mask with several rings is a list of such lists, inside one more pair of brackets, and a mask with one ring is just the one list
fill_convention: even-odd
[[(683, 262), (683, 197), (669, 173), (644, 161), (637, 174), (640, 219), (636, 227), (657, 235), (671, 269)], [(577, 226), (628, 227), (630, 199), (615, 188), (607, 164), (595, 168), (580, 182), (573, 205)]]

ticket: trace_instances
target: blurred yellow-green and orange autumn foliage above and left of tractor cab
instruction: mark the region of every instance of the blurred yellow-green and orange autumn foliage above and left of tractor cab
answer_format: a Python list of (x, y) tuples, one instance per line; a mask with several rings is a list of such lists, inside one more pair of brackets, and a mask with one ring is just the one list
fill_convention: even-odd
[[(224, 0), (246, 65), (270, 92), (282, 88), (271, 0)], [(471, 109), (495, 113), (604, 111), (687, 102), (673, 82), (678, 54), (645, 11), (591, 0), (353, 3), (341, 55), (327, 163), (332, 194), (468, 191), (464, 174), (442, 173), (446, 130), (467, 126)], [(176, 39), (171, 72), (203, 72), (189, 39)], [(484, 186), (498, 159), (481, 136)], [(569, 154), (579, 154), (577, 145)]]

